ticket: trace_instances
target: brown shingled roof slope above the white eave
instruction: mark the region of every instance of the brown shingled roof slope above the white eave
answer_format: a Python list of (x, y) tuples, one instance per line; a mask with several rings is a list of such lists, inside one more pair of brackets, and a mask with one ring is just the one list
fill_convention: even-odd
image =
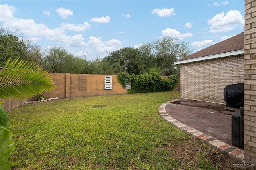
[(228, 38), (222, 42), (216, 43), (210, 47), (197, 51), (196, 53), (192, 53), (191, 55), (179, 59), (178, 61), (216, 55), (220, 53), (227, 53), (231, 51), (238, 51), (242, 49), (244, 49), (244, 32)]

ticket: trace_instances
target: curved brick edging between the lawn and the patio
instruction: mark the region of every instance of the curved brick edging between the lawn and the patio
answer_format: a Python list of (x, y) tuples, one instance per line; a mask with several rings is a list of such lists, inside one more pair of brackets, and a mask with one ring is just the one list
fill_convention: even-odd
[[(176, 100), (178, 100), (178, 99), (176, 99)], [(173, 100), (173, 101), (175, 101), (175, 100)], [(244, 160), (244, 151), (243, 150), (236, 148), (234, 146), (228, 145), (220, 140), (213, 138), (212, 136), (204, 134), (190, 126), (187, 126), (187, 125), (181, 123), (180, 121), (177, 121), (176, 119), (174, 119), (173, 117), (168, 115), (165, 111), (165, 106), (170, 102), (171, 101), (165, 102), (162, 105), (160, 105), (160, 107), (158, 108), (158, 112), (163, 119), (170, 122), (176, 128), (184, 131), (185, 133), (192, 136), (193, 138), (200, 140), (201, 142), (203, 142), (205, 144), (208, 144), (209, 146), (217, 149), (220, 152), (223, 152), (224, 154), (227, 154), (231, 158), (236, 159), (240, 162), (242, 162)]]

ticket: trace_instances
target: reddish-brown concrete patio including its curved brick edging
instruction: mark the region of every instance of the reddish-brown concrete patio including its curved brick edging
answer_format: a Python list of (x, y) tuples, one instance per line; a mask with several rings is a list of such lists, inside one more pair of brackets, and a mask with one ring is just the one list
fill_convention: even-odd
[(223, 104), (177, 99), (159, 107), (162, 118), (190, 136), (242, 161), (243, 148), (232, 146), (231, 115), (239, 108)]

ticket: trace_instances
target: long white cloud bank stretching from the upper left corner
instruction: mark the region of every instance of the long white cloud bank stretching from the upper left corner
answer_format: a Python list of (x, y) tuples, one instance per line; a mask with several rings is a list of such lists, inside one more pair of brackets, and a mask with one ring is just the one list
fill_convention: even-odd
[[(4, 15), (2, 15), (4, 12)], [(70, 47), (84, 46), (84, 38), (82, 34), (76, 34), (74, 36), (66, 36), (66, 30), (72, 30), (76, 32), (82, 32), (90, 28), (88, 22), (84, 24), (66, 24), (62, 23), (59, 27), (50, 29), (46, 24), (35, 23), (32, 19), (15, 18), (13, 14), (16, 12), (16, 8), (8, 5), (1, 5), (1, 20), (4, 24), (10, 28), (18, 29), (21, 33), (32, 36), (32, 41), (39, 40), (38, 37), (44, 37), (48, 40), (52, 40), (58, 43), (66, 43)], [(3, 16), (3, 17), (2, 17)], [(35, 38), (36, 37), (36, 38)]]

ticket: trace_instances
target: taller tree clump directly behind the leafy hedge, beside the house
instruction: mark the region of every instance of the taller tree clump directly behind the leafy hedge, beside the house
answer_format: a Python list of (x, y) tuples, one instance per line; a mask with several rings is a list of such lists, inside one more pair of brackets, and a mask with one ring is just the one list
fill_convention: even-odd
[(179, 75), (180, 68), (174, 62), (192, 51), (188, 43), (172, 38), (162, 38), (141, 45), (138, 49), (126, 47), (110, 53), (106, 62), (112, 74), (129, 73), (139, 75), (149, 73), (150, 69), (161, 70), (161, 75)]

